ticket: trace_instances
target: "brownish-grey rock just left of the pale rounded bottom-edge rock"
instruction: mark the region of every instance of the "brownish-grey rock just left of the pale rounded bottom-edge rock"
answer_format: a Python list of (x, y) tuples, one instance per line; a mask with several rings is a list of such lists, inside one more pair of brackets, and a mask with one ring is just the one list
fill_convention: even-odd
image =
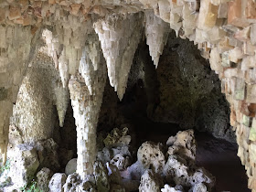
[(48, 184), (51, 176), (51, 170), (49, 170), (47, 167), (42, 168), (39, 172), (37, 172), (37, 187), (40, 190), (48, 191)]

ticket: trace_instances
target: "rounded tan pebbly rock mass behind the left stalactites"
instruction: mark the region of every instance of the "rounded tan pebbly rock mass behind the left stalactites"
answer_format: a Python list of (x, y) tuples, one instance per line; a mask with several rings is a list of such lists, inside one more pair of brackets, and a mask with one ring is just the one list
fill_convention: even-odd
[(53, 136), (54, 104), (68, 90), (62, 88), (59, 72), (46, 54), (39, 52), (31, 65), (18, 92), (12, 123), (25, 143), (35, 144)]

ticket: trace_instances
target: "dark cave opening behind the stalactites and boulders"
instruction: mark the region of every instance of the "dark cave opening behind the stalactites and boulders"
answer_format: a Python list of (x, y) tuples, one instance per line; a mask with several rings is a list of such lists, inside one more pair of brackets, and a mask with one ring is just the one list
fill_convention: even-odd
[(123, 101), (106, 86), (98, 135), (106, 137), (114, 127), (129, 127), (134, 153), (146, 141), (165, 144), (179, 131), (193, 129), (196, 162), (216, 177), (213, 191), (250, 191), (218, 75), (191, 42), (175, 34), (170, 34), (156, 70), (141, 43)]

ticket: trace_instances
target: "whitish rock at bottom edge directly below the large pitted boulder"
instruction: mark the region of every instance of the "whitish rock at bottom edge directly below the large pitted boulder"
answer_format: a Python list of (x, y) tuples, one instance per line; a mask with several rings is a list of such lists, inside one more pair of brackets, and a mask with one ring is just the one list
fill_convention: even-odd
[(140, 192), (155, 191), (160, 192), (162, 187), (160, 179), (157, 178), (152, 170), (146, 170), (141, 178)]

